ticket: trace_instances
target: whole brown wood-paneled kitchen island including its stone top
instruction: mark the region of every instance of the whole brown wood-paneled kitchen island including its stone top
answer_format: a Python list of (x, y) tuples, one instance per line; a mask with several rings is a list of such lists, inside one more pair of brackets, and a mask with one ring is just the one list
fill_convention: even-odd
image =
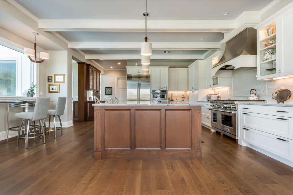
[(201, 104), (93, 104), (95, 159), (201, 159)]

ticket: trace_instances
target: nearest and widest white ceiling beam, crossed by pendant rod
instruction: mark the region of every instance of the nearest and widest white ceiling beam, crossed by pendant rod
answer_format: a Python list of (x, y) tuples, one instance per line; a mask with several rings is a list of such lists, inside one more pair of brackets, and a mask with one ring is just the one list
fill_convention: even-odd
[[(151, 31), (229, 32), (235, 20), (147, 20)], [(145, 20), (39, 20), (44, 31), (145, 31)]]

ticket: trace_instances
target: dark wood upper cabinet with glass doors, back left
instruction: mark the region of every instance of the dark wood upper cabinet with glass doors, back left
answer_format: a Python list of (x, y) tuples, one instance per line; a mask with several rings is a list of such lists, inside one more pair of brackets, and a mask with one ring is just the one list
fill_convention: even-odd
[(87, 65), (87, 80), (89, 91), (99, 91), (100, 90), (100, 70), (96, 69), (92, 65)]

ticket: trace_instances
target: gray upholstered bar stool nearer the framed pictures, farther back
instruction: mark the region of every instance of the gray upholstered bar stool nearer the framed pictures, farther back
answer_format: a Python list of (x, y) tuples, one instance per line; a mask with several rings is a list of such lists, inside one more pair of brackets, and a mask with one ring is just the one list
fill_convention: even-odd
[[(62, 123), (60, 116), (64, 114), (65, 110), (65, 104), (66, 104), (66, 97), (58, 97), (58, 101), (56, 104), (56, 109), (55, 110), (48, 110), (48, 115), (49, 115), (49, 125), (48, 127), (45, 128), (46, 132), (54, 131), (55, 132), (55, 138), (56, 138), (56, 130), (61, 129), (61, 135), (63, 135), (63, 129), (62, 129)], [(50, 127), (50, 122), (51, 122), (51, 115), (54, 117), (54, 129)], [(59, 118), (60, 126), (61, 127), (56, 127), (56, 116)]]

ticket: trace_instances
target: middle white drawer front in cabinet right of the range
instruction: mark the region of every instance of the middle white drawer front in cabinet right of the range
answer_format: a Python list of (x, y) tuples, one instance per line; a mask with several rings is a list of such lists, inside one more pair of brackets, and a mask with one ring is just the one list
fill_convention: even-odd
[(293, 118), (242, 112), (242, 127), (293, 139)]

